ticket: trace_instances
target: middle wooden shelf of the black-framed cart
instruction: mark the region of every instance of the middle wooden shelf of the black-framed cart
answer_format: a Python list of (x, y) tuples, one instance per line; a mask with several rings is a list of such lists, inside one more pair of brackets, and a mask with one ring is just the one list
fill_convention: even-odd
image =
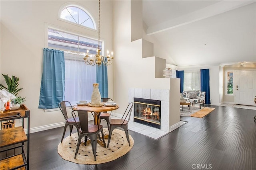
[(27, 141), (28, 138), (22, 126), (0, 130), (0, 147)]

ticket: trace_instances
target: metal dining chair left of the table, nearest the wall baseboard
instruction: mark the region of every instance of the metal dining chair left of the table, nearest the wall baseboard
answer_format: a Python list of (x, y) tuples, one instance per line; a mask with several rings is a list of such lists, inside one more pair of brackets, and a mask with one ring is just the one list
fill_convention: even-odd
[(65, 132), (66, 132), (66, 129), (67, 129), (68, 126), (69, 126), (69, 130), (70, 130), (70, 136), (71, 136), (71, 133), (72, 133), (72, 130), (73, 130), (73, 126), (76, 127), (78, 134), (79, 134), (79, 129), (80, 129), (80, 126), (78, 126), (78, 124), (76, 123), (76, 122), (79, 122), (79, 118), (76, 117), (76, 116), (75, 117), (68, 117), (67, 107), (71, 107), (71, 109), (73, 111), (73, 107), (70, 104), (70, 102), (68, 102), (68, 101), (61, 101), (59, 103), (60, 111), (62, 112), (62, 114), (64, 116), (64, 119), (66, 121), (65, 122), (65, 126), (64, 126), (63, 135), (62, 135), (62, 138), (61, 138), (61, 143), (63, 141), (63, 138), (65, 136)]

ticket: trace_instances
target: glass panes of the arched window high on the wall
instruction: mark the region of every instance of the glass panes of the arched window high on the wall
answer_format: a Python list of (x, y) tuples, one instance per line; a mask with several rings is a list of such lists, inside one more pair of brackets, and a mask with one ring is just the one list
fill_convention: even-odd
[(84, 27), (96, 29), (95, 22), (90, 14), (76, 5), (66, 6), (59, 17)]

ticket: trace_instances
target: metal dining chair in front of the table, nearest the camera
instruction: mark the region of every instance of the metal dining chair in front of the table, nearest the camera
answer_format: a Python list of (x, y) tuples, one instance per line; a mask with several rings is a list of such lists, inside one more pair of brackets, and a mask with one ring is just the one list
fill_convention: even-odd
[(99, 133), (101, 132), (102, 135), (102, 140), (104, 143), (104, 147), (106, 148), (106, 143), (104, 140), (104, 134), (103, 134), (103, 126), (102, 125), (95, 125), (95, 124), (89, 124), (88, 122), (88, 113), (92, 113), (94, 120), (95, 116), (98, 116), (98, 113), (95, 111), (86, 111), (86, 110), (73, 110), (72, 111), (72, 116), (75, 119), (75, 112), (78, 114), (80, 122), (76, 122), (77, 126), (80, 126), (81, 128), (79, 129), (79, 135), (78, 135), (78, 142), (77, 142), (77, 147), (76, 147), (76, 153), (75, 153), (75, 158), (78, 153), (80, 144), (81, 144), (81, 139), (83, 137), (86, 137), (85, 144), (87, 142), (87, 137), (90, 138), (90, 142), (92, 145), (92, 152), (94, 154), (94, 160), (96, 160), (96, 150), (97, 150), (97, 137)]

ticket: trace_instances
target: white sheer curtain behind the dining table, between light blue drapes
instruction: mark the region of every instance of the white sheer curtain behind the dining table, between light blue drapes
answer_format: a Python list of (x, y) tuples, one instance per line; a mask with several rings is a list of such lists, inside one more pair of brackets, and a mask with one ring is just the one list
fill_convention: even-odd
[(80, 100), (91, 100), (93, 83), (96, 83), (96, 66), (86, 65), (84, 56), (65, 53), (65, 100), (72, 105)]

